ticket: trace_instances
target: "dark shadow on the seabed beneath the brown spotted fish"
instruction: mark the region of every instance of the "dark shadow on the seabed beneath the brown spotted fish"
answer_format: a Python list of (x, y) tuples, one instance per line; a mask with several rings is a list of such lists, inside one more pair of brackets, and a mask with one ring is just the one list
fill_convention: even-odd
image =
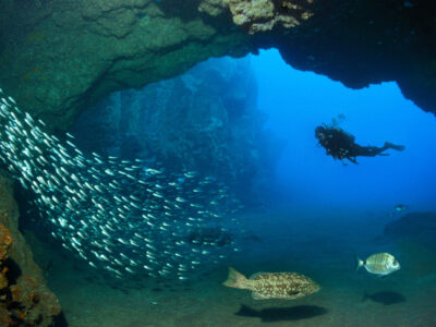
[(267, 307), (263, 310), (254, 310), (245, 304), (241, 304), (241, 308), (235, 313), (242, 317), (257, 317), (263, 323), (286, 322), (308, 319), (312, 317), (326, 314), (325, 307), (317, 305), (296, 305), (291, 307)]

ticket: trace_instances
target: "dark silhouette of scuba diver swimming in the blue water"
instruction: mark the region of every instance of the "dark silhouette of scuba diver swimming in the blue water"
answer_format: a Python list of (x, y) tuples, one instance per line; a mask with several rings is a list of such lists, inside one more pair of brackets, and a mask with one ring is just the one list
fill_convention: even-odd
[(395, 145), (389, 142), (385, 142), (382, 147), (377, 146), (361, 146), (354, 142), (354, 136), (347, 133), (342, 129), (335, 125), (324, 124), (315, 129), (315, 137), (319, 144), (326, 149), (328, 156), (335, 159), (348, 159), (353, 164), (358, 164), (356, 157), (375, 157), (375, 156), (389, 156), (389, 154), (383, 154), (383, 152), (391, 148), (395, 150), (402, 152), (403, 145)]

